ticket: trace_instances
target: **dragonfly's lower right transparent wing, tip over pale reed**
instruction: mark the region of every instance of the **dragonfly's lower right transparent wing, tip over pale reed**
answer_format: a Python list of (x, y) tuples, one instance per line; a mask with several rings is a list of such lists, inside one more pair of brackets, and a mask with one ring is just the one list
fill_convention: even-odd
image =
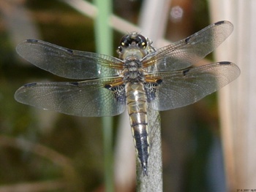
[(184, 107), (236, 80), (239, 74), (238, 66), (230, 62), (151, 74), (148, 77), (161, 77), (162, 82), (155, 88), (154, 99), (148, 104), (154, 110)]

